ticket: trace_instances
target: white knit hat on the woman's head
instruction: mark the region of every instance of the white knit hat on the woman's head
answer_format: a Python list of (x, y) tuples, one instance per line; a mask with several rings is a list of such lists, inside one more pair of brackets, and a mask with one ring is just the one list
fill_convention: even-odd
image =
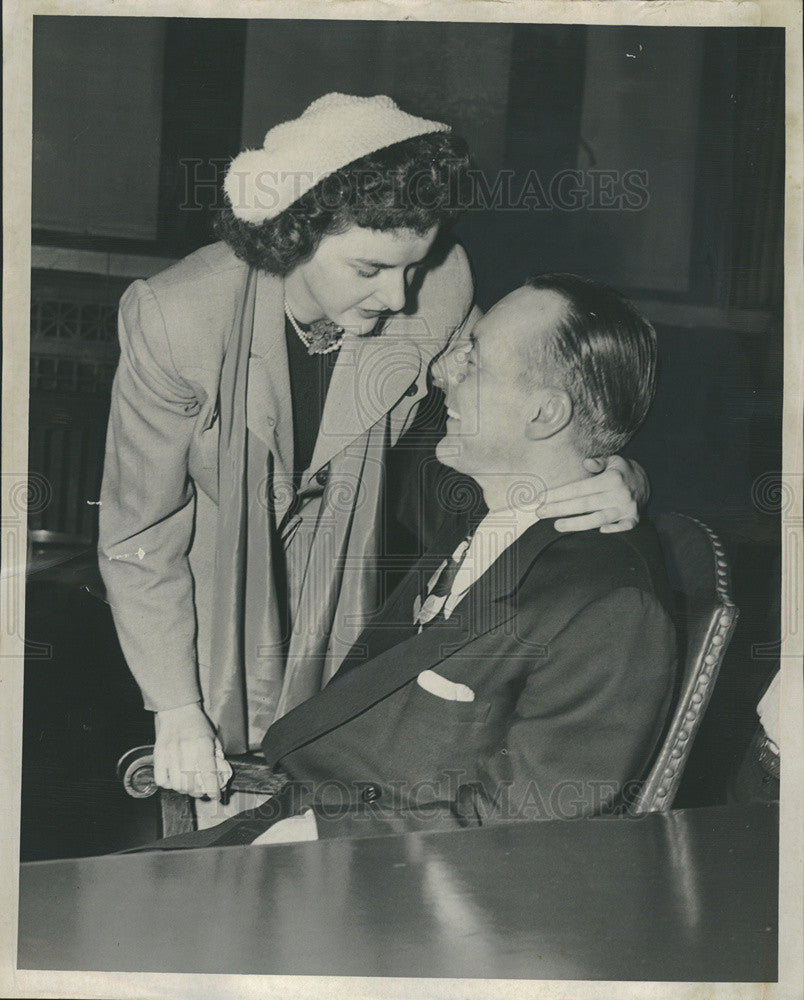
[(361, 156), (417, 135), (449, 131), (442, 122), (407, 114), (384, 94), (325, 94), (299, 118), (272, 128), (262, 149), (236, 156), (223, 190), (238, 219), (259, 224)]

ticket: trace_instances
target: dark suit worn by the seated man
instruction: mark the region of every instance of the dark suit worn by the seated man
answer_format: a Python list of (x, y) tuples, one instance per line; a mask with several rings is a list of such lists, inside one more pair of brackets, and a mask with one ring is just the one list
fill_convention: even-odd
[[(441, 532), (437, 552), (454, 538)], [(540, 521), (421, 634), (425, 557), (340, 673), (266, 733), (290, 785), (251, 818), (164, 846), (248, 843), (315, 809), (319, 836), (608, 811), (646, 772), (673, 692), (675, 633), (653, 529), (560, 534)], [(467, 686), (449, 701), (425, 670)]]

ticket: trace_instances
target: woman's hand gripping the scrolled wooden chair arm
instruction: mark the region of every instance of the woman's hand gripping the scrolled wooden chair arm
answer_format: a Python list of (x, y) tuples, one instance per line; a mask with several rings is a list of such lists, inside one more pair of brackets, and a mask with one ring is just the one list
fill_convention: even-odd
[(223, 748), (198, 704), (156, 713), (154, 781), (195, 798), (217, 799), (232, 776)]

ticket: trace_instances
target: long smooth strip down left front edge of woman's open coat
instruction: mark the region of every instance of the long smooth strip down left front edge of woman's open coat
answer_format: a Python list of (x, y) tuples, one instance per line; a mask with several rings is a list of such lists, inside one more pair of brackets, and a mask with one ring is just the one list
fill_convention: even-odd
[(250, 733), (264, 731), (260, 713), (266, 690), (281, 683), (282, 664), (277, 669), (277, 657), (260, 652), (281, 648), (282, 640), (268, 504), (260, 491), (272, 465), (274, 511), (281, 518), (292, 499), (287, 368), (281, 282), (251, 268), (224, 352), (219, 392), (220, 501), (211, 628), (215, 669), (207, 708), (229, 753), (244, 753), (251, 745)]

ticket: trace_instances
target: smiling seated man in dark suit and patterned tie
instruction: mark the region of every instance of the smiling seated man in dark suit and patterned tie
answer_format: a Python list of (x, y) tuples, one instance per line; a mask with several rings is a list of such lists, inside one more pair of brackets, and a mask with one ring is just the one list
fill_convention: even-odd
[[(617, 293), (572, 275), (499, 302), (436, 365), (439, 459), (482, 489), (461, 537), (403, 580), (319, 694), (263, 740), (275, 799), (189, 844), (449, 829), (612, 810), (644, 776), (673, 691), (658, 543), (561, 534), (539, 496), (588, 476), (644, 419), (656, 339)], [(471, 527), (471, 526), (470, 526)], [(457, 547), (456, 547), (456, 542)], [(444, 559), (438, 553), (451, 553)]]

